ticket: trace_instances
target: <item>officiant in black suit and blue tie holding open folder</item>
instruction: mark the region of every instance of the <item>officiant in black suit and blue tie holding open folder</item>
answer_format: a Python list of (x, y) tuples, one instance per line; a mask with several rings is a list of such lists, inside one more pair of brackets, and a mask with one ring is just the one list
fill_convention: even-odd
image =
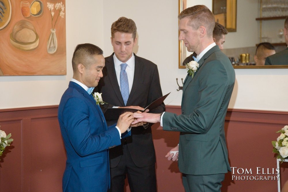
[[(119, 18), (111, 26), (114, 53), (105, 58), (103, 78), (95, 88), (109, 103), (108, 107), (128, 106), (143, 110), (162, 96), (157, 65), (136, 56), (132, 51), (137, 42), (136, 30), (135, 22), (125, 17)], [(121, 70), (122, 65), (126, 65), (124, 71)], [(127, 74), (128, 82), (125, 85), (122, 84), (122, 72)], [(128, 91), (126, 96), (123, 93), (125, 88)], [(162, 103), (149, 112), (161, 113), (164, 110)], [(112, 123), (114, 121), (107, 121), (108, 125)], [(155, 162), (151, 123), (132, 128), (131, 136), (123, 140), (121, 146), (110, 149), (110, 191), (124, 191), (126, 175), (132, 192), (156, 191)]]

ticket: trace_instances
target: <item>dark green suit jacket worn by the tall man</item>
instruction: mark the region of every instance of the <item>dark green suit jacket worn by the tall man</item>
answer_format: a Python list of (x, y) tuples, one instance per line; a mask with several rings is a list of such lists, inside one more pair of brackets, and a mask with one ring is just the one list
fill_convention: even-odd
[(190, 175), (231, 171), (224, 121), (235, 82), (235, 71), (218, 46), (199, 60), (193, 79), (183, 85), (182, 114), (164, 113), (163, 130), (179, 131), (179, 170)]

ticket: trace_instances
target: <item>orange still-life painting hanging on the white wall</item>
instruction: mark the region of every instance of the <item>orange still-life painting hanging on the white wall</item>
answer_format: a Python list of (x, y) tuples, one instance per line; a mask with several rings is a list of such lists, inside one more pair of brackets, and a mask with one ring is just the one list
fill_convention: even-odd
[(65, 0), (0, 0), (0, 76), (66, 75)]

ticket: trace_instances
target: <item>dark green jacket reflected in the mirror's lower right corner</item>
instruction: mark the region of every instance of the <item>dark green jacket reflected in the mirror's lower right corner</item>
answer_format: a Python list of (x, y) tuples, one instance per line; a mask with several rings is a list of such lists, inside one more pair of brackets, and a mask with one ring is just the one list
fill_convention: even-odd
[(288, 65), (288, 47), (283, 51), (267, 57), (265, 65)]

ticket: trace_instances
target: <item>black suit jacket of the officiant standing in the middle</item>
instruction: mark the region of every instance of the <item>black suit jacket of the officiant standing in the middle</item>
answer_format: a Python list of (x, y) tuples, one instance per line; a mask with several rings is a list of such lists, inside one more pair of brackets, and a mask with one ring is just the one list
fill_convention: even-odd
[[(105, 58), (103, 77), (100, 79), (95, 91), (102, 93), (103, 100), (111, 104), (109, 107), (124, 107), (124, 101), (116, 77), (113, 54)], [(161, 96), (162, 91), (157, 65), (135, 55), (134, 80), (126, 106), (133, 105), (145, 108)], [(149, 113), (161, 113), (164, 110), (165, 105), (162, 103)], [(107, 121), (107, 124), (111, 125), (114, 122)], [(132, 160), (136, 166), (146, 167), (155, 164), (156, 158), (151, 125), (147, 129), (143, 128), (143, 126), (132, 127), (131, 136), (127, 137), (126, 141)], [(118, 165), (122, 154), (122, 146), (110, 149), (111, 168), (115, 168)]]

